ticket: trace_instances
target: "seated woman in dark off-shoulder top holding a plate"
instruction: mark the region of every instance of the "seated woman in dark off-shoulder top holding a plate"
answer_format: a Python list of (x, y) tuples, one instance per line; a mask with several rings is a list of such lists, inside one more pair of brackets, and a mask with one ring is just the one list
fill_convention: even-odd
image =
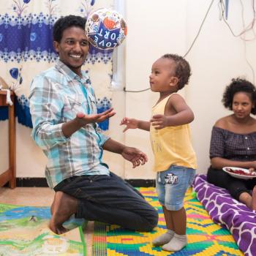
[(256, 210), (256, 178), (234, 178), (222, 167), (256, 169), (256, 91), (247, 80), (236, 78), (228, 85), (222, 103), (233, 113), (220, 118), (211, 132), (210, 158), (207, 180), (227, 189), (236, 200)]

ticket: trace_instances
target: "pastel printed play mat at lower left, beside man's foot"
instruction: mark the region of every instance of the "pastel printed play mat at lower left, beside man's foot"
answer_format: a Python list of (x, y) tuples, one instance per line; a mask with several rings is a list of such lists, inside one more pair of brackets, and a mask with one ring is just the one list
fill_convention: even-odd
[(65, 222), (61, 236), (48, 228), (49, 207), (12, 206), (0, 203), (0, 255), (86, 255), (82, 219)]

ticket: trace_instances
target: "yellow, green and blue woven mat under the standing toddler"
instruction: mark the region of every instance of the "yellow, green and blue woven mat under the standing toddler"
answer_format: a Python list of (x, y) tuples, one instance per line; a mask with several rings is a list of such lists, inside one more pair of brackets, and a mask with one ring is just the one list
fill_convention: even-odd
[(189, 189), (185, 197), (187, 211), (188, 244), (180, 252), (165, 252), (152, 246), (152, 240), (165, 233), (165, 219), (154, 188), (140, 188), (140, 192), (159, 212), (159, 223), (150, 233), (132, 232), (117, 225), (94, 223), (94, 238), (91, 255), (94, 256), (167, 256), (167, 255), (244, 255), (233, 236), (225, 228), (215, 224)]

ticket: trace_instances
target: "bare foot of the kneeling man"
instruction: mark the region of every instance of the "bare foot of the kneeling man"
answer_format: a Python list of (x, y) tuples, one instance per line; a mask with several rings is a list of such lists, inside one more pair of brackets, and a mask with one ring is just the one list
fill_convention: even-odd
[(72, 214), (77, 212), (78, 200), (75, 197), (58, 191), (53, 200), (53, 204), (50, 207), (52, 211), (52, 217), (50, 219), (50, 230), (56, 234), (62, 234), (68, 230), (63, 227), (63, 223), (69, 219)]

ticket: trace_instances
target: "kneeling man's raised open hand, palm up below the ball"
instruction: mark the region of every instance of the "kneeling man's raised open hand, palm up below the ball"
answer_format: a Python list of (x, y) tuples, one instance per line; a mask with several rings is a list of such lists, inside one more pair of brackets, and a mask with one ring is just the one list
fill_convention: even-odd
[(80, 125), (83, 127), (86, 124), (92, 124), (92, 123), (98, 123), (101, 121), (105, 121), (106, 119), (108, 119), (114, 115), (116, 115), (116, 112), (113, 111), (113, 108), (110, 108), (109, 110), (106, 110), (102, 113), (94, 114), (94, 115), (85, 115), (84, 113), (79, 112), (79, 113), (77, 113), (76, 118), (78, 118)]

